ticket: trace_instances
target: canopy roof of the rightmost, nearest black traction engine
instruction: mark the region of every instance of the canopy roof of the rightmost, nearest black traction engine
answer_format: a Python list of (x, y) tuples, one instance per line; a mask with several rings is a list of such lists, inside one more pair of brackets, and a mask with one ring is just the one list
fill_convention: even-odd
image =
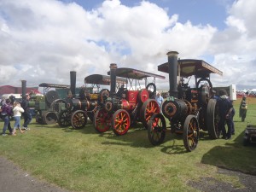
[[(206, 61), (184, 59), (177, 61), (180, 67), (180, 76), (188, 78), (189, 76), (195, 75), (197, 78), (206, 78), (210, 76), (210, 73), (217, 73), (223, 75), (217, 68), (212, 67)], [(158, 71), (168, 73), (168, 62), (158, 66)]]

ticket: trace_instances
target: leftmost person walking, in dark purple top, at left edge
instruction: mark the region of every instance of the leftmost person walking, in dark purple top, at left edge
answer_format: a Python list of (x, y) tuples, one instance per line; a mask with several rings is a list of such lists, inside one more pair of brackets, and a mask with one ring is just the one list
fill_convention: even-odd
[(9, 133), (12, 134), (12, 128), (9, 123), (11, 116), (12, 116), (12, 106), (10, 104), (10, 100), (7, 99), (1, 108), (1, 117), (4, 122), (3, 133), (2, 133), (3, 136), (6, 136), (5, 131), (7, 130), (7, 128), (9, 129)]

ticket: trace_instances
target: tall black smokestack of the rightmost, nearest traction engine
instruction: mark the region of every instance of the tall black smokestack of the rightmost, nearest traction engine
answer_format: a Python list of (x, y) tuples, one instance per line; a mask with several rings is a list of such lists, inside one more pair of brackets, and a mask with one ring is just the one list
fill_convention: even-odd
[(168, 55), (170, 96), (177, 98), (177, 51), (170, 51)]

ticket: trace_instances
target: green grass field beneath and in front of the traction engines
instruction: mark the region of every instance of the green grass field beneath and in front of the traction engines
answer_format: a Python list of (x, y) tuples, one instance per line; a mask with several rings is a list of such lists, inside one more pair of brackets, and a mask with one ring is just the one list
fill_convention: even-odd
[[(256, 124), (256, 99), (247, 98), (246, 122), (238, 117), (231, 140), (211, 140), (201, 131), (195, 151), (187, 153), (182, 137), (166, 134), (165, 143), (153, 147), (143, 125), (116, 137), (98, 134), (89, 123), (82, 130), (38, 125), (16, 137), (0, 137), (0, 155), (33, 176), (74, 191), (196, 191), (189, 181), (214, 177), (243, 186), (238, 177), (219, 174), (217, 167), (256, 174), (256, 146), (242, 145), (247, 122)], [(12, 125), (14, 123), (12, 122)], [(3, 121), (0, 122), (3, 128)]]

